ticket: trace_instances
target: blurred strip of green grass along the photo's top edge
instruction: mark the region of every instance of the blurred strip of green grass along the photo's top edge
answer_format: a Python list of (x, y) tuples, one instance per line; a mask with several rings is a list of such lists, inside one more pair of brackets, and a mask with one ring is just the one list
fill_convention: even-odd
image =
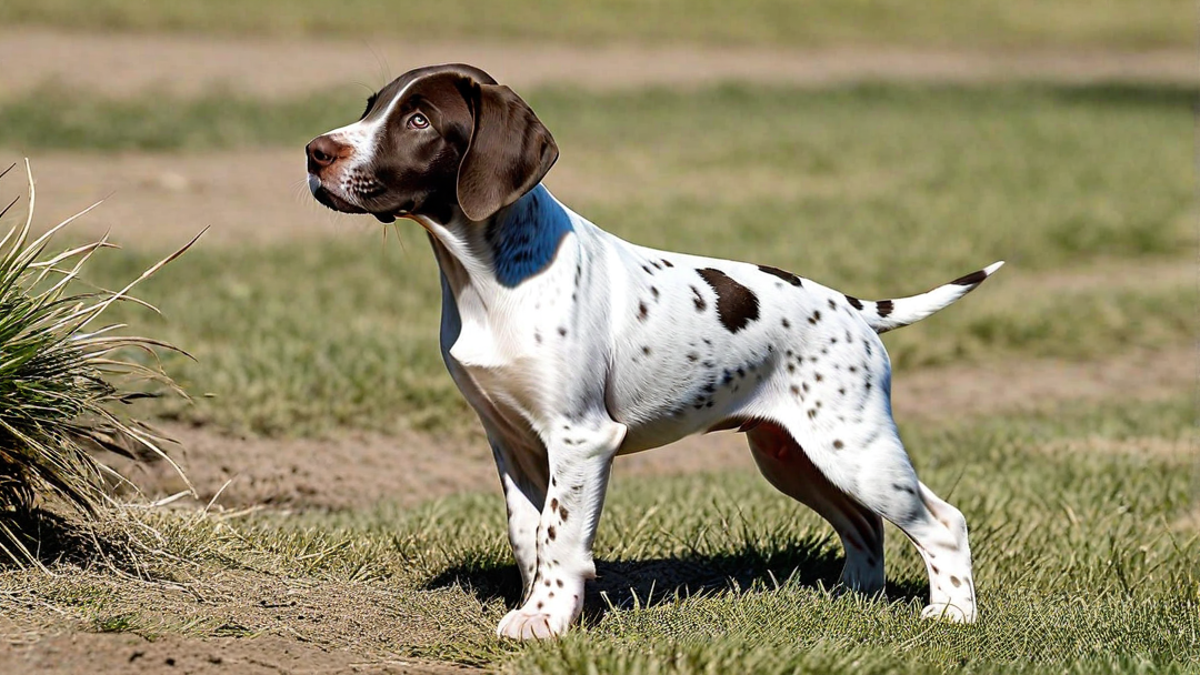
[(1182, 0), (8, 0), (0, 24), (379, 40), (811, 47), (1190, 47)]

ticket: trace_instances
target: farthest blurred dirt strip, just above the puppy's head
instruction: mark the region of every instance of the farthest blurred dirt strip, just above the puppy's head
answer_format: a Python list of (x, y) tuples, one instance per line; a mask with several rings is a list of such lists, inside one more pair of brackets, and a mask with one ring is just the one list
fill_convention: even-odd
[(124, 96), (212, 85), (283, 96), (338, 85), (376, 89), (416, 65), (466, 61), (521, 88), (696, 86), (721, 80), (821, 85), (863, 79), (986, 82), (1033, 78), (1200, 80), (1195, 54), (1152, 52), (946, 52), (842, 48), (574, 47), (455, 41), (236, 40), (186, 35), (0, 30), (0, 91), (55, 80)]

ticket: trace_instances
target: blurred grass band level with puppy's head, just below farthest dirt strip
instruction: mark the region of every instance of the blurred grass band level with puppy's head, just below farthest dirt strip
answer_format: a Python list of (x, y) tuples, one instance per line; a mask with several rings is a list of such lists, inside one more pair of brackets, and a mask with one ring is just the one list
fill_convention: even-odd
[[(763, 262), (817, 280), (860, 282), (864, 297), (895, 292), (898, 273), (935, 261), (967, 270), (1007, 257), (1045, 270), (1096, 255), (1175, 253), (1195, 240), (1183, 142), (1193, 88), (526, 96), (562, 148), (548, 185), (595, 222), (650, 246), (748, 259), (767, 252)], [(109, 101), (48, 88), (0, 100), (0, 147), (300, 148), (354, 119), (360, 98)], [(941, 281), (936, 270), (913, 279)]]

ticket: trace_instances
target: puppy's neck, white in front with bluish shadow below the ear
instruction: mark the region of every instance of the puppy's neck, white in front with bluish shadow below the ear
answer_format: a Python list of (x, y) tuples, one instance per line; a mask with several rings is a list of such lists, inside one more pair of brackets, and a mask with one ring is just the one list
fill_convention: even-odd
[(536, 279), (574, 231), (568, 210), (541, 185), (486, 221), (473, 222), (455, 209), (446, 223), (427, 217), (419, 222), (430, 232), (455, 297), (469, 286), (491, 298)]

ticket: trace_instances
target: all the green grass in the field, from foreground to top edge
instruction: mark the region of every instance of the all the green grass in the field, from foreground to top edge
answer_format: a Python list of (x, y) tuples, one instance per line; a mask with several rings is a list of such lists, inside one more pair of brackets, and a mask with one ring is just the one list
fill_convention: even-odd
[[(361, 0), (14, 0), (0, 22), (703, 48), (1190, 47), (1194, 29), (1177, 0), (688, 2), (686, 20), (682, 0), (488, 7), (412, 5), (403, 31), (394, 6)], [(364, 94), (112, 101), (47, 86), (0, 95), (0, 147), (298, 149), (353, 119)], [(638, 243), (774, 264), (864, 298), (1008, 259), (961, 305), (887, 336), (899, 370), (1040, 356), (1103, 364), (1180, 351), (1200, 331), (1183, 141), (1194, 89), (522, 94), (563, 149), (551, 187)], [(132, 244), (97, 257), (90, 279), (110, 286), (157, 258)], [(384, 245), (202, 244), (142, 295), (166, 316), (126, 307), (114, 321), (198, 359), (167, 359), (197, 402), (160, 404), (160, 419), (274, 436), (474, 424), (437, 354), (437, 273), (410, 226)], [(702, 459), (672, 478), (618, 468), (596, 539), (601, 577), (584, 625), (560, 641), (492, 637), (518, 589), (494, 494), (337, 513), (133, 508), (116, 534), (47, 516), (53, 536), (36, 554), (53, 574), (0, 568), (0, 615), (34, 633), (282, 635), (355, 661), (508, 673), (1198, 673), (1195, 413), (1181, 393), (904, 426), (922, 478), (971, 525), (983, 611), (971, 627), (917, 620), (926, 580), (895, 530), (887, 597), (832, 597), (841, 561), (829, 527), (752, 470), (704, 473)]]

